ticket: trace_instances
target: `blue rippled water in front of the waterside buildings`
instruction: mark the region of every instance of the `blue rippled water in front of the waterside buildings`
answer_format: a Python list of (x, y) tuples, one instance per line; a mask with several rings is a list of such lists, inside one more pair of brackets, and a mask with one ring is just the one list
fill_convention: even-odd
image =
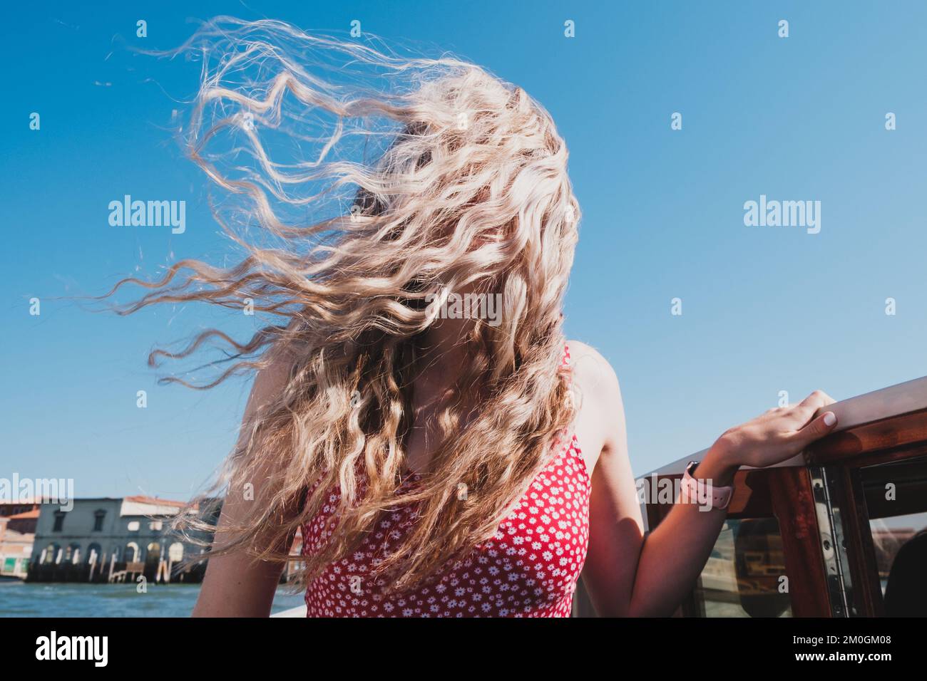
[[(0, 617), (188, 617), (198, 584), (25, 584), (0, 580)], [(272, 612), (295, 608), (302, 596), (277, 589)]]

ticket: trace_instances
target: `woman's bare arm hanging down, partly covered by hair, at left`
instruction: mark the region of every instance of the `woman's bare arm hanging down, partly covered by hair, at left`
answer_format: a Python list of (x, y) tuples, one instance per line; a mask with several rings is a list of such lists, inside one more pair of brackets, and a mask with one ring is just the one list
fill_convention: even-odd
[[(256, 410), (284, 388), (288, 367), (275, 362), (255, 377), (245, 408), (244, 422), (248, 422)], [(242, 435), (244, 436), (244, 435)], [(267, 490), (260, 487), (260, 480), (254, 481), (253, 499), (243, 494), (226, 495), (222, 513), (216, 528), (215, 541), (222, 546), (225, 536), (223, 528), (236, 524), (245, 511), (246, 504), (260, 503)], [(286, 548), (278, 547), (278, 550)], [(267, 617), (271, 613), (273, 595), (276, 593), (285, 564), (279, 561), (255, 561), (245, 553), (231, 553), (210, 558), (199, 592), (194, 617)]]

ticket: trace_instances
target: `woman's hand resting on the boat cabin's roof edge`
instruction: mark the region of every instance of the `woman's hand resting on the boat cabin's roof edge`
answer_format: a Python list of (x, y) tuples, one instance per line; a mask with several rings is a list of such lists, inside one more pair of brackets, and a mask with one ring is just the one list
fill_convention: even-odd
[(731, 428), (721, 435), (712, 450), (733, 470), (739, 466), (764, 468), (798, 454), (837, 425), (832, 411), (818, 418), (821, 407), (833, 404), (827, 393), (815, 390), (799, 404), (768, 410), (753, 421)]

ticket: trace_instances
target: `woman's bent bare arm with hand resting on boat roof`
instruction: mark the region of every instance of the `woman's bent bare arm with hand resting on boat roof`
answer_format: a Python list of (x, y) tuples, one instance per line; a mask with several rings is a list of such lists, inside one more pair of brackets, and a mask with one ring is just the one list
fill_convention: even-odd
[[(705, 567), (727, 512), (674, 504), (644, 541), (615, 372), (595, 350), (574, 342), (570, 349), (583, 400), (578, 430), (593, 451), (601, 452), (593, 461), (583, 583), (601, 615), (672, 614)], [(728, 486), (742, 465), (769, 466), (794, 456), (832, 431), (836, 419), (825, 422), (832, 412), (812, 420), (816, 410), (832, 401), (815, 392), (799, 405), (769, 410), (730, 429), (709, 449), (694, 477)]]

